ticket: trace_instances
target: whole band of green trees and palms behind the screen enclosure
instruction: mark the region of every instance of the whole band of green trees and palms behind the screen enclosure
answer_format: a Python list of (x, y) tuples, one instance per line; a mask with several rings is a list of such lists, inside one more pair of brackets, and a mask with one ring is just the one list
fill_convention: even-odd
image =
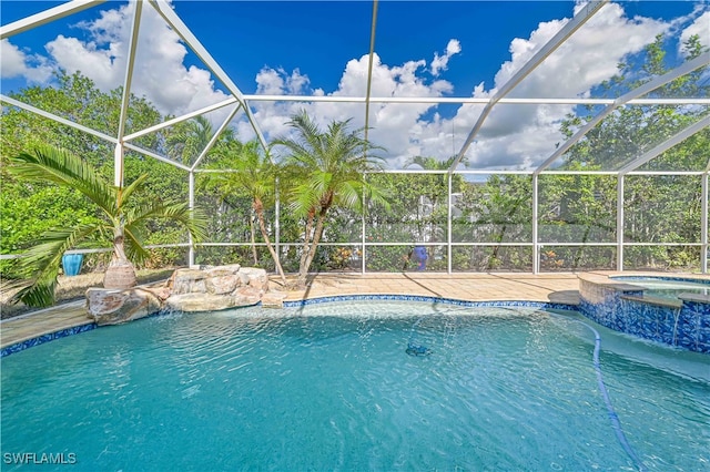
[[(666, 73), (665, 41), (659, 37), (642, 54), (628, 58), (618, 74), (595, 93), (617, 98)], [(702, 51), (697, 37), (684, 44), (689, 60)], [(708, 68), (701, 68), (648, 96), (708, 96), (707, 74)], [(122, 90), (101, 92), (80, 74), (60, 73), (55, 86), (33, 86), (12, 96), (106, 134), (114, 134), (119, 126)], [(128, 132), (170, 117), (161, 116), (150, 102), (135, 96), (131, 96), (128, 111)], [(562, 134), (572, 136), (598, 111), (578, 107), (560, 124)], [(215, 244), (199, 246), (196, 260), (254, 264), (280, 274), (297, 271), (302, 284), (308, 271), (359, 268), (361, 264), (367, 270), (410, 270), (415, 265), (408, 264), (407, 256), (416, 244), (427, 247), (427, 270), (444, 270), (449, 264), (454, 270), (531, 270), (536, 263), (532, 244), (538, 244), (542, 270), (577, 270), (613, 268), (621, 237), (641, 244), (625, 249), (627, 268), (697, 269), (701, 176), (623, 177), (625, 225), (619, 235), (617, 176), (588, 175), (588, 171), (623, 168), (708, 113), (707, 106), (667, 104), (615, 110), (558, 162), (559, 170), (587, 174), (539, 175), (536, 242), (531, 223), (534, 183), (529, 175), (453, 174), (449, 225), (449, 176), (444, 172), (378, 173), (382, 161), (376, 153), (381, 148), (364, 140), (364, 130), (351, 129), (349, 121), (321, 127), (301, 112), (287, 123), (291, 133), (273, 142), (268, 152), (255, 143), (241, 142), (226, 130), (203, 156), (196, 174), (195, 206), (209, 220), (204, 240)], [(12, 106), (3, 109), (0, 120), (1, 254), (24, 253), (38, 235), (54, 227), (108, 222), (105, 213), (97, 212), (97, 205), (77, 189), (45, 179), (30, 184), (19, 178), (11, 171), (18, 163), (11, 158), (22, 153), (31, 155), (38, 143), (48, 144), (81, 156), (97, 179), (112, 182), (112, 144)], [(209, 120), (195, 117), (141, 136), (133, 144), (192, 165), (213, 133)], [(708, 148), (710, 130), (706, 129), (639, 170), (704, 171)], [(275, 164), (267, 158), (270, 155)], [(452, 162), (453, 157), (414, 156), (406, 164), (409, 168), (445, 171)], [(236, 172), (219, 172), (225, 167)], [(138, 182), (140, 187), (140, 192), (133, 191), (126, 211), (153, 202), (187, 199), (183, 170), (133, 151), (125, 155), (125, 182)], [(108, 229), (104, 233), (111, 234)], [(180, 225), (150, 219), (143, 243), (182, 243), (184, 235)], [(446, 248), (448, 240), (454, 243), (450, 252)], [(186, 263), (181, 248), (141, 255), (138, 264), (142, 267)], [(90, 266), (97, 264), (95, 258), (92, 260)], [(7, 261), (1, 268), (4, 278), (28, 276), (22, 267), (10, 267)]]

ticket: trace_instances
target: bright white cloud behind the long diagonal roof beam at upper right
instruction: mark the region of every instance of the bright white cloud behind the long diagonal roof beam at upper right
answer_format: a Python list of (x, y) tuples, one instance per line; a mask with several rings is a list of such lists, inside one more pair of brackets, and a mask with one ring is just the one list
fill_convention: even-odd
[[(501, 64), (491, 90), (478, 85), (476, 98), (491, 96), (503, 86), (568, 20), (540, 23), (528, 39), (514, 39), (510, 60)], [(619, 4), (607, 4), (559, 49), (550, 54), (530, 75), (508, 95), (511, 98), (574, 98), (588, 96), (590, 90), (617, 72), (617, 64), (627, 54), (639, 52), (656, 34), (668, 29), (667, 23), (652, 19), (625, 16)], [(571, 112), (571, 105), (498, 105), (486, 119), (475, 143), (467, 152), (473, 167), (528, 168), (539, 165), (564, 141), (559, 122)], [(483, 106), (463, 105), (450, 121), (426, 123), (424, 135), (437, 135), (455, 127), (456, 151), (476, 123)], [(458, 131), (465, 130), (465, 131)], [(423, 142), (426, 142), (423, 140)], [(443, 145), (423, 146), (426, 155), (446, 156)], [(434, 154), (438, 152), (439, 154)]]

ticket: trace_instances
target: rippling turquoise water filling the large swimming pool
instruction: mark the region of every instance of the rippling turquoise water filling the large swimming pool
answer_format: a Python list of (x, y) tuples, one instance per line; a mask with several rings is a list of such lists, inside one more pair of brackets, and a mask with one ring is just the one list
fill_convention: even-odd
[[(610, 421), (589, 327), (640, 463)], [(26, 452), (75, 461), (42, 471), (710, 468), (710, 357), (569, 312), (361, 301), (175, 314), (1, 367), (3, 470), (26, 470), (7, 460)]]

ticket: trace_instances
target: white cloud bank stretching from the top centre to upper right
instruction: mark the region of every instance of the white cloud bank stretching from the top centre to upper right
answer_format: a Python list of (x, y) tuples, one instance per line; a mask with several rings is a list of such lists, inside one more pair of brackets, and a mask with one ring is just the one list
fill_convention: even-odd
[[(514, 39), (510, 42), (510, 60), (500, 65), (494, 88), (486, 90), (481, 83), (471, 95), (493, 96), (567, 21), (544, 22), (529, 38)], [(509, 96), (589, 96), (595, 85), (617, 72), (617, 64), (626, 55), (639, 52), (656, 34), (667, 29), (667, 23), (657, 20), (629, 19), (620, 6), (608, 4), (520, 82)], [(449, 41), (445, 55), (435, 54), (430, 64), (432, 73), (445, 71), (448, 59), (459, 52), (459, 42)], [(367, 61), (366, 55), (351, 60), (338, 89), (331, 95), (364, 96)], [(425, 81), (422, 76), (425, 68), (426, 63), (422, 60), (390, 66), (383, 64), (375, 55), (372, 95), (443, 96), (453, 90), (446, 81)], [(308, 110), (322, 123), (355, 116), (354, 123), (363, 125), (363, 109), (362, 103), (316, 103)], [(414, 155), (446, 160), (455, 154), (463, 146), (484, 106), (464, 104), (452, 119), (434, 114), (425, 120), (424, 116), (429, 116), (433, 109), (428, 104), (371, 104), (369, 125), (373, 130), (369, 136), (387, 148), (392, 167), (400, 166)], [(497, 106), (467, 152), (469, 163), (479, 168), (530, 168), (539, 165), (555, 152), (556, 144), (564, 141), (559, 124), (572, 110), (571, 105)], [(270, 115), (270, 120), (278, 122), (273, 119), (273, 114)]]

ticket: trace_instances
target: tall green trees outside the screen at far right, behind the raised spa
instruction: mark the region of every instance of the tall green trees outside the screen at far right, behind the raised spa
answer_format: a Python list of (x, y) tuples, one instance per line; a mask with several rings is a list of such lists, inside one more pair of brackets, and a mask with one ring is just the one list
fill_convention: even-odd
[[(663, 35), (648, 44), (638, 57), (619, 64), (618, 73), (601, 84), (599, 93), (616, 99), (656, 76), (668, 72), (666, 55), (669, 48)], [(683, 57), (691, 60), (703, 51), (699, 37), (690, 37), (683, 44)], [(708, 66), (699, 68), (688, 74), (657, 88), (647, 96), (699, 98), (708, 96), (710, 85), (706, 80)], [(575, 131), (594, 117), (589, 107), (587, 116), (568, 116), (561, 131), (570, 137)], [(589, 131), (565, 155), (562, 170), (619, 170), (639, 157), (671, 135), (697, 122), (710, 113), (707, 106), (676, 105), (633, 105), (615, 110), (597, 126)], [(639, 171), (702, 171), (707, 168), (708, 156), (704, 150), (710, 145), (710, 130), (706, 129), (683, 143), (673, 146), (648, 163)], [(585, 225), (597, 234), (585, 232), (581, 239), (589, 237), (596, 242), (616, 239), (616, 185), (607, 177), (556, 177), (544, 194), (558, 195), (562, 205), (558, 215), (551, 215), (560, 225)], [(594, 181), (594, 183), (592, 183)], [(567, 188), (567, 189), (565, 189)], [(576, 191), (572, 188), (577, 188)], [(625, 177), (625, 224), (619, 230), (629, 243), (699, 243), (701, 220), (700, 179), (693, 176), (627, 176)], [(542, 196), (541, 202), (545, 201)], [(545, 215), (542, 215), (545, 217)], [(589, 252), (589, 248), (587, 248)], [(699, 253), (688, 247), (645, 246), (628, 247), (625, 250), (635, 268), (674, 266), (699, 260)], [(581, 250), (575, 256), (579, 261)], [(697, 263), (696, 263), (697, 264)], [(611, 260), (601, 258), (587, 268), (607, 268)]]

